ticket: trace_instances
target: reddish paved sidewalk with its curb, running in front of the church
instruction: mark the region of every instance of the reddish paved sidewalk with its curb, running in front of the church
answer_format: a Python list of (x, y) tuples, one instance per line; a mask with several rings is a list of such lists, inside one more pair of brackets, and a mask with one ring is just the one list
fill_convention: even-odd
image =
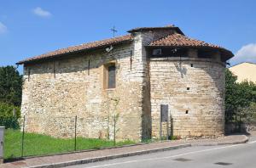
[(248, 138), (246, 136), (232, 135), (227, 137), (220, 137), (218, 139), (177, 140), (160, 143), (143, 143), (121, 148), (104, 148), (72, 154), (56, 154), (44, 157), (26, 158), (24, 160), (5, 163), (0, 165), (0, 168), (63, 167), (67, 165), (79, 165), (100, 160), (112, 160), (115, 158), (127, 157), (131, 155), (149, 154), (176, 148), (185, 148), (193, 145), (237, 144), (246, 143), (247, 140)]

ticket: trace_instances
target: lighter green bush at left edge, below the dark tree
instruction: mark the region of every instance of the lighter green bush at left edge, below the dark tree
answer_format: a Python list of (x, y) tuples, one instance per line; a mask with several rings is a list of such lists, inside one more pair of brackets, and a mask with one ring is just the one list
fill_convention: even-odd
[(5, 126), (5, 128), (18, 129), (20, 127), (19, 118), (20, 108), (11, 104), (0, 102), (0, 126)]

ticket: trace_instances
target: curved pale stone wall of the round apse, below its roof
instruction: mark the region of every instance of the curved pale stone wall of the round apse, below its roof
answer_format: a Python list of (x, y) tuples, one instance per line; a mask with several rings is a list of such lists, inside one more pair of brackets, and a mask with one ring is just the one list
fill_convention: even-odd
[(150, 87), (153, 137), (160, 136), (160, 104), (169, 105), (173, 135), (224, 134), (224, 64), (213, 59), (151, 59)]

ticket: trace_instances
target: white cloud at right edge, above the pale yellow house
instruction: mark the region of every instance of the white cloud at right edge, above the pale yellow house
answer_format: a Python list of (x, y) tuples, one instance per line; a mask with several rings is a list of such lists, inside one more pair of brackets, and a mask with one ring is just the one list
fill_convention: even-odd
[(242, 46), (235, 54), (235, 57), (230, 59), (232, 64), (241, 62), (256, 63), (256, 43), (250, 43)]

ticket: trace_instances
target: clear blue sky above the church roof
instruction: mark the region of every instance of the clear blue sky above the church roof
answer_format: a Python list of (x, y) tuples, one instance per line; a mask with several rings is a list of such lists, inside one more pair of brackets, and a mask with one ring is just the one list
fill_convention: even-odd
[[(256, 63), (254, 0), (0, 0), (0, 66), (140, 26), (174, 24), (187, 36)], [(20, 71), (21, 68), (19, 69)]]

